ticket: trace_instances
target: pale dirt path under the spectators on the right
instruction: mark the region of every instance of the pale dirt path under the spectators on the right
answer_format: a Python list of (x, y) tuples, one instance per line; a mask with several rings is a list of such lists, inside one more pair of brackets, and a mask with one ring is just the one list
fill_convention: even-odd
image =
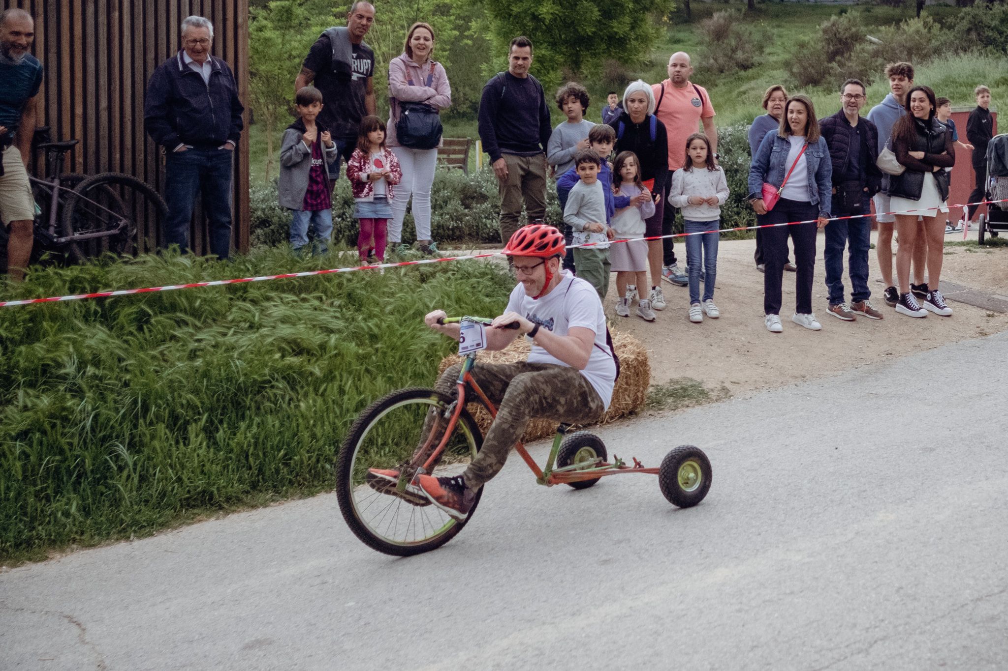
[[(974, 239), (976, 233), (971, 235)], [(947, 241), (962, 239), (949, 235)], [(874, 235), (873, 235), (874, 241)], [(615, 277), (606, 300), (606, 313), (616, 327), (628, 331), (651, 352), (652, 384), (689, 377), (724, 396), (755, 389), (814, 379), (858, 366), (870, 366), (911, 352), (932, 349), (957, 340), (978, 338), (1008, 328), (1008, 314), (998, 314), (953, 303), (955, 315), (929, 315), (911, 319), (898, 315), (882, 301), (875, 249), (870, 253), (869, 286), (874, 305), (883, 311), (881, 321), (859, 319), (843, 322), (827, 314), (823, 266), (825, 236), (818, 236), (812, 309), (823, 330), (808, 331), (793, 324), (794, 274), (785, 273), (781, 319), (784, 332), (769, 333), (763, 325), (763, 276), (753, 264), (754, 240), (722, 240), (718, 257), (715, 302), (718, 320), (691, 324), (686, 318), (688, 292), (663, 284), (668, 307), (657, 321), (646, 323), (633, 315), (615, 316)], [(676, 255), (684, 264), (685, 249), (676, 241)], [(1008, 247), (946, 248), (942, 280), (1008, 297)], [(850, 282), (845, 271), (845, 287)], [(849, 294), (848, 294), (849, 296)], [(954, 371), (950, 371), (953, 374)]]

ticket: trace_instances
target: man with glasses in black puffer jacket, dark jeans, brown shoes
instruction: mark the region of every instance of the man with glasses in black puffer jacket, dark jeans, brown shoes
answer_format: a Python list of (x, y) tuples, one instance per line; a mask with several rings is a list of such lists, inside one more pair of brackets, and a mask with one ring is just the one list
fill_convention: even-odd
[[(828, 312), (846, 322), (857, 317), (882, 319), (882, 313), (868, 300), (868, 249), (871, 246), (869, 201), (878, 193), (882, 172), (878, 159), (878, 129), (863, 119), (865, 85), (848, 79), (840, 88), (841, 109), (824, 119), (820, 128), (830, 148), (833, 162), (833, 205), (831, 214), (840, 218), (826, 227), (826, 286), (830, 292)], [(850, 243), (848, 262), (851, 276), (851, 303), (844, 300), (844, 247)]]

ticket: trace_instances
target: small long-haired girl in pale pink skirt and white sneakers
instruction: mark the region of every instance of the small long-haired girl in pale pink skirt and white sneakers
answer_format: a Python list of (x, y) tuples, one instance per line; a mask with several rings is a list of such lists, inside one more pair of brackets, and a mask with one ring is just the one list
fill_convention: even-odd
[[(644, 219), (654, 215), (654, 202), (651, 192), (640, 180), (640, 162), (636, 154), (620, 152), (613, 165), (613, 191), (616, 195), (630, 198), (630, 205), (616, 210), (610, 221), (616, 238), (609, 253), (620, 296), (616, 301), (616, 314), (629, 317), (630, 303), (639, 298), (637, 287), (647, 288), (647, 242), (633, 238), (644, 235)], [(637, 316), (648, 322), (654, 321), (650, 301), (637, 303)]]

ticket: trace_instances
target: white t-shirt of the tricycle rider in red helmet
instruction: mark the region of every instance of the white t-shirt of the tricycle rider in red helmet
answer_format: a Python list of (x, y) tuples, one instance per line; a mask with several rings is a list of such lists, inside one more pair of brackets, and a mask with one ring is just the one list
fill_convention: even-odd
[[(516, 286), (511, 292), (506, 311), (524, 315), (533, 324), (560, 336), (568, 335), (570, 329), (576, 326), (594, 331), (592, 355), (588, 359), (588, 365), (580, 372), (598, 392), (606, 409), (609, 409), (613, 385), (616, 383), (616, 361), (606, 344), (606, 314), (602, 309), (602, 301), (599, 300), (595, 287), (588, 281), (576, 278), (566, 271), (563, 271), (561, 277), (559, 284), (538, 300), (525, 294), (522, 285)], [(534, 342), (528, 362), (568, 365)]]

